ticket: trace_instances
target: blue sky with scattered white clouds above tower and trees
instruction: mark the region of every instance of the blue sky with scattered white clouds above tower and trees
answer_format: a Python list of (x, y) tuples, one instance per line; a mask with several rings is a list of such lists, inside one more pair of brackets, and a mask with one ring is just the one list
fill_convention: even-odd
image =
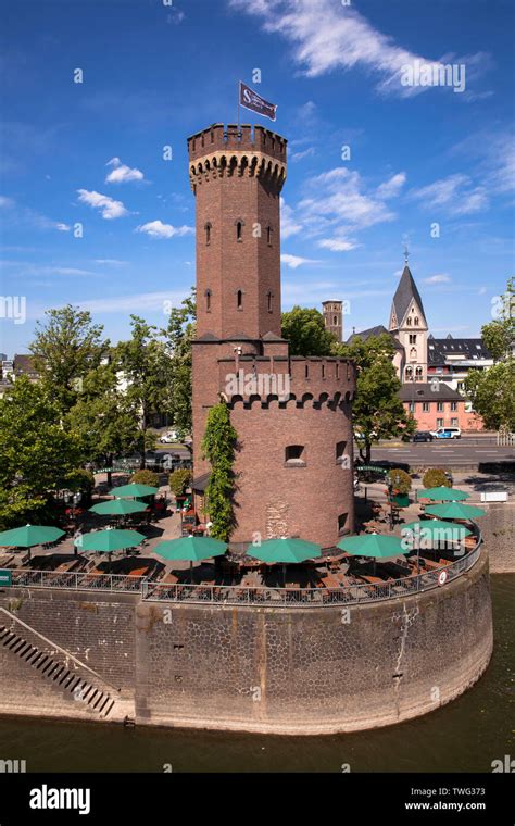
[[(277, 121), (242, 121), (289, 140), (284, 309), (387, 324), (407, 241), (431, 330), (477, 335), (513, 274), (512, 0), (167, 2), (0, 3), (1, 292), (26, 299), (0, 351), (67, 302), (112, 341), (130, 313), (165, 324), (194, 284), (186, 138), (234, 122), (256, 68)], [(463, 91), (406, 85), (438, 64)]]

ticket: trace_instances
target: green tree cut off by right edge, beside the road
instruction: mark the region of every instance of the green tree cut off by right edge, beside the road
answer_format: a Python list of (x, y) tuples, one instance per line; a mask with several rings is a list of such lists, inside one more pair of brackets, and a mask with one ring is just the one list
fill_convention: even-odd
[(491, 430), (515, 430), (515, 292), (513, 281), (501, 296), (498, 317), (485, 324), (481, 335), (495, 363), (485, 371), (472, 370), (465, 392), (485, 426)]

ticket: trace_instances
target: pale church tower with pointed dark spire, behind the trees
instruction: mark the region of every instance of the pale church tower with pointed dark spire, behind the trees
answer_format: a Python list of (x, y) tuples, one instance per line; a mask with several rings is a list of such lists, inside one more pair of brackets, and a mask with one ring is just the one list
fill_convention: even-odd
[(399, 365), (401, 381), (427, 381), (428, 326), (420, 295), (407, 266), (407, 254), (393, 296), (389, 330), (404, 348), (405, 355)]

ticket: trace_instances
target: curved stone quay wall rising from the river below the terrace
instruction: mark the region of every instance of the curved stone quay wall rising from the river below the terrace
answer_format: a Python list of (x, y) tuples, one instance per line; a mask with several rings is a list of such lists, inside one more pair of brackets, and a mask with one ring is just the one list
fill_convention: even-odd
[[(0, 634), (9, 633), (0, 714), (285, 735), (366, 729), (430, 712), (481, 676), (492, 651), (488, 555), (442, 587), (347, 608), (5, 588)], [(36, 654), (30, 665), (27, 643), (50, 665), (39, 669)]]

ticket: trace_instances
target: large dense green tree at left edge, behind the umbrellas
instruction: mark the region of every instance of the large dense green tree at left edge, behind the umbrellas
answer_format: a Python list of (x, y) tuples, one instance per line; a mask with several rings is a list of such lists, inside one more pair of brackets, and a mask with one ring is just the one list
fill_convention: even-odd
[(80, 465), (79, 440), (60, 424), (49, 388), (16, 379), (0, 399), (0, 524), (37, 523)]

